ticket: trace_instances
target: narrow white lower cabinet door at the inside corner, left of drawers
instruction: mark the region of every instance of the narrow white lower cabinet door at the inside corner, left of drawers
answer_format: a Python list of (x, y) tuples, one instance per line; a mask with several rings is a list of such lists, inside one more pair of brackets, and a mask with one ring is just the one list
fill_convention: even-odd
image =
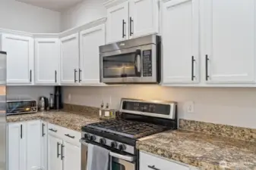
[(48, 144), (47, 144), (47, 138), (48, 138), (48, 132), (47, 132), (47, 123), (41, 121), (41, 169), (47, 170), (47, 151), (48, 151)]

